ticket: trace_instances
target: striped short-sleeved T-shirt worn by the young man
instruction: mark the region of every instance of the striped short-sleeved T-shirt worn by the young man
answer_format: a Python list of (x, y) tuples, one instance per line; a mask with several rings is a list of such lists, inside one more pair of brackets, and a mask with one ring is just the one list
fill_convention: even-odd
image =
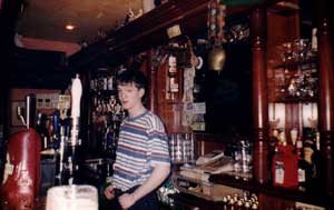
[(143, 184), (155, 164), (170, 164), (168, 138), (161, 120), (146, 110), (126, 118), (121, 126), (114, 164), (112, 186), (126, 191)]

